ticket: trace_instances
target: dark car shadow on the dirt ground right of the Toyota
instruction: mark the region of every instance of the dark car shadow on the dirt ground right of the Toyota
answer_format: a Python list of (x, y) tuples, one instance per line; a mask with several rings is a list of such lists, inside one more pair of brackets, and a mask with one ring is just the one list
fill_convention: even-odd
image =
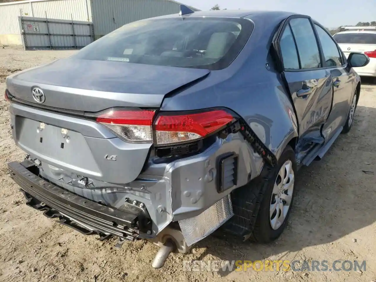
[[(364, 85), (361, 95), (366, 95), (369, 87), (376, 92), (374, 86)], [(340, 135), (321, 161), (299, 170), (288, 225), (275, 242), (243, 242), (217, 231), (194, 246), (204, 249), (197, 259), (283, 260), (289, 253), (331, 244), (373, 224), (376, 221), (376, 189), (372, 174), (376, 164), (376, 153), (373, 153), (376, 152), (376, 141), (372, 136), (376, 131), (375, 116), (376, 108), (358, 105), (350, 132)], [(350, 242), (352, 238), (346, 240)], [(301, 258), (298, 255), (296, 259)], [(226, 276), (232, 271), (220, 271), (219, 275)]]

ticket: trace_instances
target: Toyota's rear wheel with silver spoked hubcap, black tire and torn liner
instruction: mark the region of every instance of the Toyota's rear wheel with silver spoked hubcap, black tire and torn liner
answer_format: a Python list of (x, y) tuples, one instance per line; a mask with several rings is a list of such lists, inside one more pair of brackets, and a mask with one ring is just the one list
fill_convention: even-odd
[(294, 199), (295, 152), (287, 146), (276, 167), (231, 193), (233, 217), (221, 228), (243, 240), (268, 243), (285, 229)]

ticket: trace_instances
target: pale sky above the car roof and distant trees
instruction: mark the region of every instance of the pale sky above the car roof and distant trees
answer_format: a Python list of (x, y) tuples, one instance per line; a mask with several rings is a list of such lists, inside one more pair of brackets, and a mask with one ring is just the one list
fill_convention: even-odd
[(376, 21), (376, 0), (180, 0), (200, 10), (215, 4), (220, 9), (273, 10), (309, 15), (326, 27), (356, 25)]

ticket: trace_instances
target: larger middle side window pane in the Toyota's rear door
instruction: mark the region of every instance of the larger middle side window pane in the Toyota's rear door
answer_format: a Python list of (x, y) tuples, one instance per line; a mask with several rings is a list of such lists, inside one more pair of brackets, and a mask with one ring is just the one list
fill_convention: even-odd
[(290, 21), (298, 47), (302, 69), (321, 68), (316, 37), (308, 18), (293, 18)]

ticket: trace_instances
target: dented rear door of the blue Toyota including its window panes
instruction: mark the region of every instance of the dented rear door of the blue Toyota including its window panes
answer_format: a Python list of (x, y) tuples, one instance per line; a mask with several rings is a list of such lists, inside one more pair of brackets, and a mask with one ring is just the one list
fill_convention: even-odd
[(321, 126), (332, 105), (332, 77), (323, 66), (311, 19), (290, 17), (282, 27), (278, 42), (282, 75), (290, 90), (299, 123), (299, 151), (309, 149), (315, 143), (323, 144)]

